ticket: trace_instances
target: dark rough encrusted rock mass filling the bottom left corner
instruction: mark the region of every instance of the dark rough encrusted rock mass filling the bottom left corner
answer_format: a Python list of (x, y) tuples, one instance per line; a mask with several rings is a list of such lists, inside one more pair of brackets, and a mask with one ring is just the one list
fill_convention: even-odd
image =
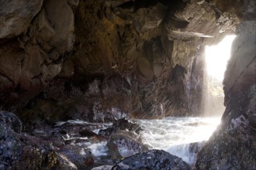
[(50, 142), (20, 133), (21, 121), (14, 114), (1, 111), (0, 117), (1, 169), (77, 169), (67, 158), (58, 155)]

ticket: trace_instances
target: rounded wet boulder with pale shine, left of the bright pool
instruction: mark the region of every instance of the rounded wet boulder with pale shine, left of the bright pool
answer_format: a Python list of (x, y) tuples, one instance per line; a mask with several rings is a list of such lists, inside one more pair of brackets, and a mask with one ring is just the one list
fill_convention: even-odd
[(114, 159), (127, 158), (142, 151), (148, 151), (148, 147), (144, 145), (142, 138), (131, 131), (119, 131), (112, 134), (107, 146), (111, 157)]

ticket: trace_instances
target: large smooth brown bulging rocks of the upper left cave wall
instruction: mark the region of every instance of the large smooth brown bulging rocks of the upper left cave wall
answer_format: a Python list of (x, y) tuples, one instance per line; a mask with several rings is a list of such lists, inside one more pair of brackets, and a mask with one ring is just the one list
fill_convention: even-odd
[(13, 0), (0, 8), (0, 108), (16, 110), (60, 73), (74, 43), (74, 6)]

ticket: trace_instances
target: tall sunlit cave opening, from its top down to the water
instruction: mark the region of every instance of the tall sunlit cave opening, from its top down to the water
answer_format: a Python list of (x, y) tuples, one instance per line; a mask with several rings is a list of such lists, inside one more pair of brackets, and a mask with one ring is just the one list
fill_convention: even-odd
[(204, 116), (221, 116), (225, 110), (223, 79), (235, 37), (234, 35), (225, 36), (218, 44), (206, 46), (205, 87), (202, 93), (202, 113)]

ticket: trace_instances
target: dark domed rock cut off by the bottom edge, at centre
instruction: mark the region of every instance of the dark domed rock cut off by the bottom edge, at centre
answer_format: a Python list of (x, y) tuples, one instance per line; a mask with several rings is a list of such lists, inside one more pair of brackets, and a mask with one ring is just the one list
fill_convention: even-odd
[(150, 150), (124, 159), (112, 169), (192, 169), (175, 155), (162, 150)]

